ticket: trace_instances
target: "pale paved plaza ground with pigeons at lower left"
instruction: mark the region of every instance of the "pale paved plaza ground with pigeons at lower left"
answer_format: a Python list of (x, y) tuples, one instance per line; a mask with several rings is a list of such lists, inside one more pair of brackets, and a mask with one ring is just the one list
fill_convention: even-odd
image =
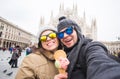
[[(18, 68), (11, 68), (11, 66), (8, 64), (11, 55), (12, 54), (10, 54), (9, 51), (3, 52), (0, 50), (0, 79), (15, 79)], [(25, 51), (23, 51), (18, 59), (18, 67), (25, 55)]]

